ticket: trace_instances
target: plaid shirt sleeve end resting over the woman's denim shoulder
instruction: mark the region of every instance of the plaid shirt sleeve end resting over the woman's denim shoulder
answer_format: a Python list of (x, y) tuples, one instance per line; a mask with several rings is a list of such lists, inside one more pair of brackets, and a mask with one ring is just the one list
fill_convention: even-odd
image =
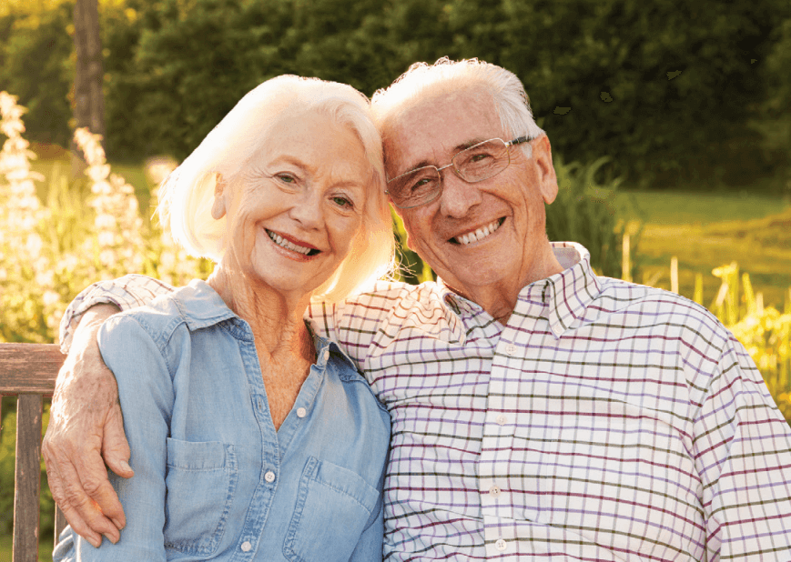
[(66, 308), (60, 320), (60, 350), (68, 353), (80, 318), (91, 306), (111, 304), (121, 310), (144, 306), (160, 295), (167, 295), (173, 287), (147, 276), (128, 275), (99, 281), (84, 289)]

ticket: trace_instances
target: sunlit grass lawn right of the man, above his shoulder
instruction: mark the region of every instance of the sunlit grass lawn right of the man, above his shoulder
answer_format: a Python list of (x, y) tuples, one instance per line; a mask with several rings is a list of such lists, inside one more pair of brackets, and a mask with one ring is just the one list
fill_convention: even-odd
[(742, 194), (622, 192), (618, 212), (643, 224), (638, 283), (670, 287), (670, 260), (678, 258), (679, 292), (692, 296), (704, 276), (704, 304), (720, 280), (712, 269), (736, 262), (750, 274), (766, 305), (785, 306), (791, 287), (791, 202)]

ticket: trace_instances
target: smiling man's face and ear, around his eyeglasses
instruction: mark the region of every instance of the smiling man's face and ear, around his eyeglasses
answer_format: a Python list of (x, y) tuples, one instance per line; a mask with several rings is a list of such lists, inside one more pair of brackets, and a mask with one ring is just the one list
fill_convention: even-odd
[[(385, 131), (387, 175), (445, 166), (463, 148), (490, 138), (507, 142), (509, 135), (491, 96), (478, 90), (432, 95), (393, 118)], [(511, 165), (475, 184), (447, 168), (440, 197), (397, 209), (409, 246), (464, 296), (492, 289), (515, 295), (553, 273), (546, 264), (544, 203), (557, 195), (557, 178), (546, 136), (531, 145), (531, 158), (512, 146)]]

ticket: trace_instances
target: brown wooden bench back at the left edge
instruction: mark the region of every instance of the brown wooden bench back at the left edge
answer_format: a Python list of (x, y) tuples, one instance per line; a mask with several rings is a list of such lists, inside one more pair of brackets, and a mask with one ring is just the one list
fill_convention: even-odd
[[(0, 395), (17, 396), (12, 562), (38, 560), (42, 405), (44, 396), (52, 396), (55, 390), (57, 371), (65, 358), (56, 345), (0, 344)], [(66, 518), (56, 507), (56, 541), (63, 527)]]

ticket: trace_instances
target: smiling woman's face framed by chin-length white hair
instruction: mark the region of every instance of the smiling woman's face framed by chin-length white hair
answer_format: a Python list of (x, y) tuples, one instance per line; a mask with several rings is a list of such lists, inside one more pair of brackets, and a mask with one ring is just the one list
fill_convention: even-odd
[(314, 112), (280, 117), (233, 186), (217, 195), (228, 215), (227, 255), (249, 281), (307, 295), (349, 253), (369, 181), (350, 129)]

